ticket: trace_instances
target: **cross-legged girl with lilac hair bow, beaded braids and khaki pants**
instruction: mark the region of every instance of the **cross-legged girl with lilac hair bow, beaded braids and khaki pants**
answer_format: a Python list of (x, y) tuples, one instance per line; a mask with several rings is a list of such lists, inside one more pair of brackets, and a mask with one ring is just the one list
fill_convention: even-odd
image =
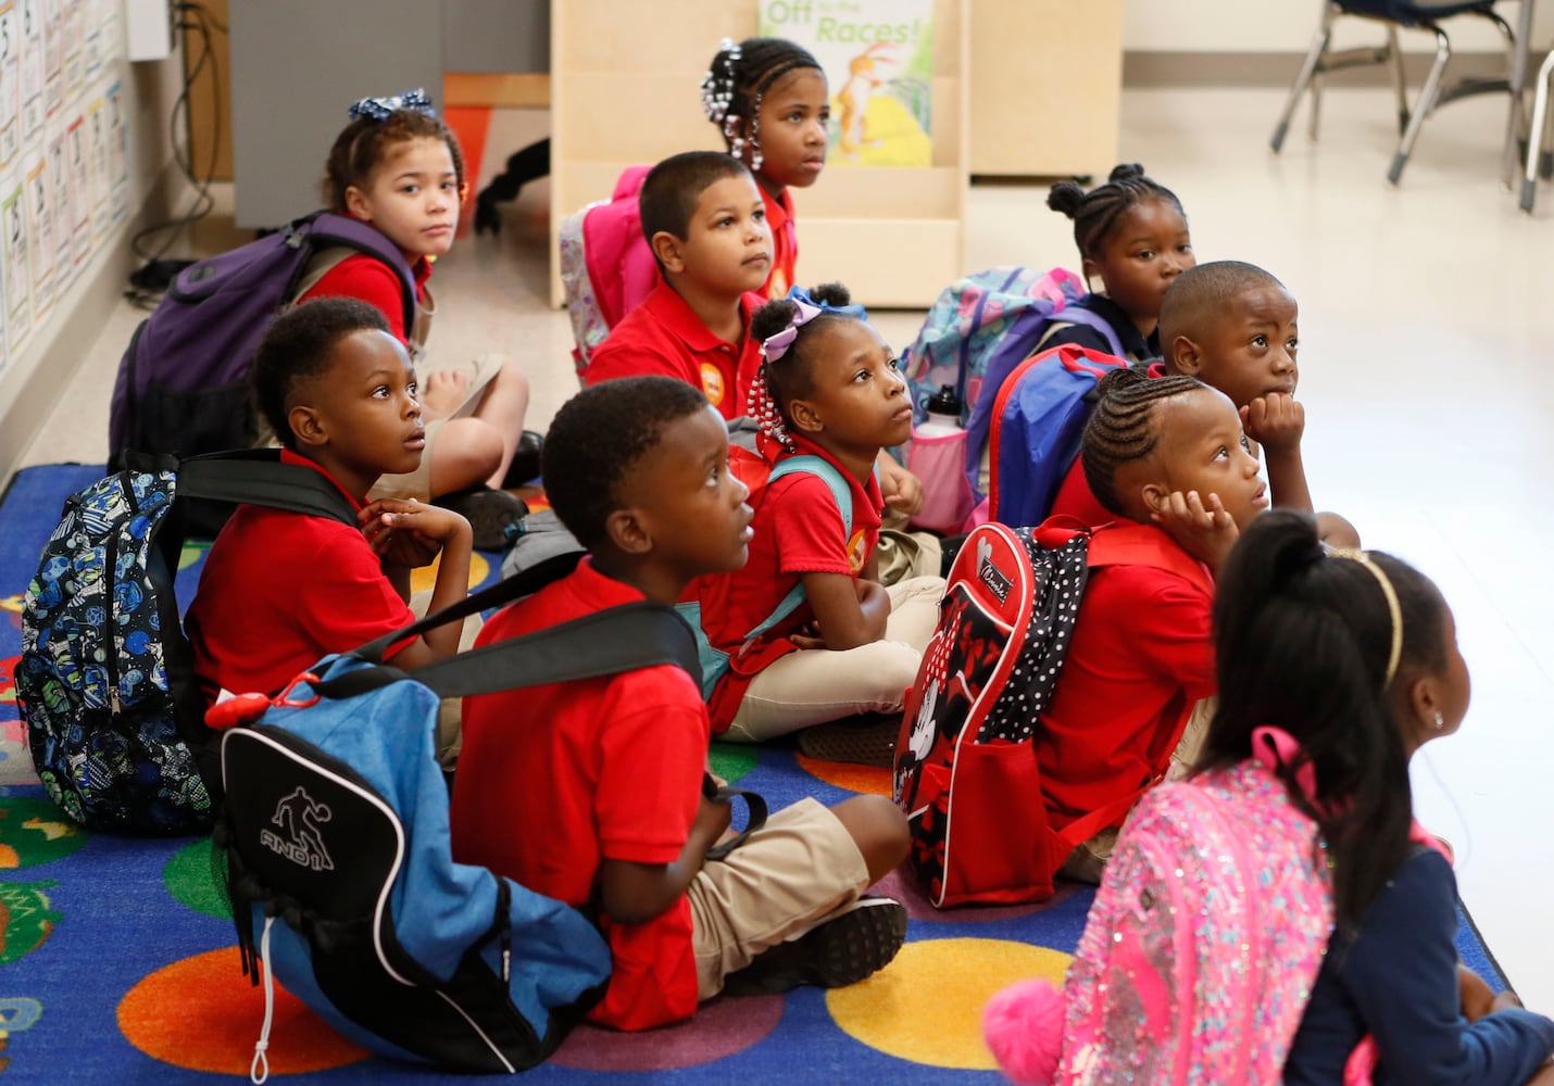
[[(875, 458), (911, 430), (906, 381), (841, 284), (768, 301), (751, 334), (765, 357), (749, 412), (761, 455), (774, 469), (800, 457), (808, 466), (757, 486), (749, 559), (702, 592), (707, 639), (730, 656), (709, 698), (712, 724), (741, 741), (805, 729), (799, 744), (811, 757), (890, 764), (945, 587), (939, 576), (878, 581)], [(751, 634), (796, 592), (785, 618)], [(839, 718), (853, 719), (811, 727)]]

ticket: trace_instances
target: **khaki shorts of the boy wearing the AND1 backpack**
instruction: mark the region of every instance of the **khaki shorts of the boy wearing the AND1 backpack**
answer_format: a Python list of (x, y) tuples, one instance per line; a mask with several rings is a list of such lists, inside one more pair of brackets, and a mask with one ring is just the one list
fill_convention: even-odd
[(702, 864), (690, 898), (696, 994), (712, 999), (730, 973), (797, 938), (869, 886), (869, 865), (825, 806), (802, 799), (723, 859)]

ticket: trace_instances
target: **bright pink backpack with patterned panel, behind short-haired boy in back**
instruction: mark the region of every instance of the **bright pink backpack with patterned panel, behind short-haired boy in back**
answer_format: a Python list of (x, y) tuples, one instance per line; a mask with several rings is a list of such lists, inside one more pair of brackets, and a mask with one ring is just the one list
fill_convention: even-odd
[(637, 208), (650, 169), (628, 168), (608, 200), (595, 200), (561, 221), (561, 289), (572, 320), (578, 381), (609, 329), (657, 286), (659, 266), (642, 236)]

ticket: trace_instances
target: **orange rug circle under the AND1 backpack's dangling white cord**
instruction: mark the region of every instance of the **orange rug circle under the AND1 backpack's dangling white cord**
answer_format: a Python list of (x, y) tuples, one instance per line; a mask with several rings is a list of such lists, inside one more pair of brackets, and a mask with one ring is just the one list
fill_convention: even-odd
[[(264, 987), (242, 976), (238, 948), (186, 957), (146, 976), (118, 1004), (124, 1039), (154, 1060), (190, 1070), (249, 1074), (264, 1024)], [(275, 985), (266, 1053), (272, 1075), (328, 1070), (365, 1060), (294, 994)]]

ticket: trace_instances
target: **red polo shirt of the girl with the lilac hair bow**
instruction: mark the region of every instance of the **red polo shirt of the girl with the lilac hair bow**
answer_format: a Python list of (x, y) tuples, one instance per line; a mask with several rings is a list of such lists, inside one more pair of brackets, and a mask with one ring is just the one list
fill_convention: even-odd
[[(797, 649), (788, 635), (814, 618), (808, 603), (744, 648), (744, 637), (765, 621), (800, 583), (803, 573), (856, 578), (880, 542), (884, 499), (873, 472), (859, 483), (821, 446), (796, 438), (797, 452), (828, 460), (853, 488), (853, 528), (844, 533), (831, 488), (817, 475), (794, 472), (771, 483), (755, 506), (749, 558), (743, 569), (702, 578), (702, 628), (707, 640), (730, 654), (729, 671), (712, 693), (716, 732), (726, 732), (751, 679), (772, 660)], [(783, 454), (777, 463), (797, 454)], [(713, 583), (715, 581), (715, 583)], [(743, 651), (741, 651), (743, 649)]]

